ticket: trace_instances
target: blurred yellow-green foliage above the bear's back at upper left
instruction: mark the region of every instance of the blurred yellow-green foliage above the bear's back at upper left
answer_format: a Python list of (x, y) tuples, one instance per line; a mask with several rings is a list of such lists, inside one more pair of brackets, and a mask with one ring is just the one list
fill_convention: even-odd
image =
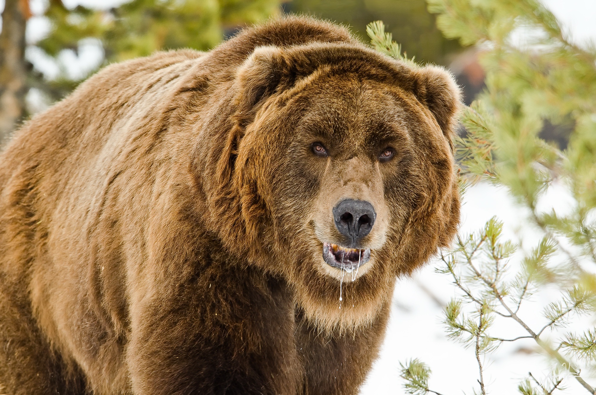
[[(209, 50), (238, 27), (277, 15), (280, 4), (281, 0), (132, 0), (104, 11), (82, 5), (69, 9), (61, 0), (50, 0), (44, 16), (51, 29), (35, 45), (57, 57), (63, 50), (77, 51), (82, 39), (99, 39), (104, 51), (100, 66), (160, 50)], [(80, 81), (66, 73), (53, 81), (34, 75), (30, 85), (53, 101)]]

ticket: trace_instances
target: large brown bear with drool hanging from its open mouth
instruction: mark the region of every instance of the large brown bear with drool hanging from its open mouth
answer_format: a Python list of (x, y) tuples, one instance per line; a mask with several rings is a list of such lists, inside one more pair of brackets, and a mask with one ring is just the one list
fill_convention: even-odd
[(440, 67), (286, 17), (105, 67), (0, 156), (8, 394), (356, 394), (459, 220)]

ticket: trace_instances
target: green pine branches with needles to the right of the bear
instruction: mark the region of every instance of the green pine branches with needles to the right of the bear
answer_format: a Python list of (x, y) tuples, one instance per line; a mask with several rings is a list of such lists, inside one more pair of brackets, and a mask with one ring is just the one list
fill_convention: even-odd
[[(506, 187), (543, 236), (524, 251), (502, 240), (502, 223), (492, 218), (440, 252), (437, 271), (451, 278), (458, 295), (445, 308), (446, 333), (476, 356), (474, 393), (490, 392), (485, 356), (504, 342), (525, 339), (550, 357), (552, 371), (545, 380), (527, 374), (520, 393), (551, 394), (576, 380), (594, 394), (596, 331), (569, 329), (581, 314), (596, 313), (596, 49), (570, 42), (537, 0), (427, 1), (446, 37), (476, 47), (486, 73), (485, 91), (461, 115), (462, 184)], [(368, 34), (378, 51), (412, 61), (382, 23), (369, 24)], [(545, 122), (573, 125), (566, 148), (541, 138)], [(568, 214), (537, 208), (553, 183), (566, 186), (574, 200)], [(514, 254), (522, 257), (515, 264)], [(561, 297), (545, 307), (543, 322), (534, 327), (520, 307), (545, 285), (558, 287)], [(495, 320), (509, 322), (520, 336), (501, 337)], [(560, 335), (561, 330), (569, 332)], [(428, 387), (430, 369), (413, 362), (401, 368), (406, 392), (437, 394)]]

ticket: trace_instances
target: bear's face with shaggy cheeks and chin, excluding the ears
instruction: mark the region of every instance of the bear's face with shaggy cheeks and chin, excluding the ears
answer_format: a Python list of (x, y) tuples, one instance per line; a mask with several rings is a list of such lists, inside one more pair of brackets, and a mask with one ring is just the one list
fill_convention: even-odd
[[(267, 51), (260, 61), (279, 68), (272, 57), (283, 50)], [(258, 55), (247, 61), (250, 72), (263, 67)], [(440, 115), (415, 92), (362, 67), (323, 65), (283, 79), (257, 90), (236, 149), (243, 211), (260, 213), (260, 264), (288, 280), (306, 316), (326, 328), (355, 328), (390, 300), (396, 276), (454, 233), (451, 129), (442, 130)], [(454, 95), (452, 117), (457, 88), (442, 94)]]

